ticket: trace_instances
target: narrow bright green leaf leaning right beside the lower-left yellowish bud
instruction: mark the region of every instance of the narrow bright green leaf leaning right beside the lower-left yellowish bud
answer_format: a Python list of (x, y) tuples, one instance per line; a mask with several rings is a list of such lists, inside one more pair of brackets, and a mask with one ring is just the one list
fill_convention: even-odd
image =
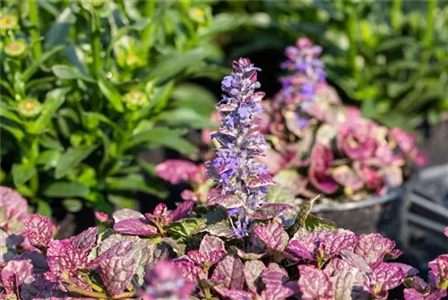
[(28, 126), (28, 131), (33, 134), (43, 133), (47, 125), (56, 113), (56, 110), (62, 106), (65, 101), (65, 94), (69, 88), (56, 89), (47, 93), (47, 97), (42, 106), (42, 112), (38, 119)]

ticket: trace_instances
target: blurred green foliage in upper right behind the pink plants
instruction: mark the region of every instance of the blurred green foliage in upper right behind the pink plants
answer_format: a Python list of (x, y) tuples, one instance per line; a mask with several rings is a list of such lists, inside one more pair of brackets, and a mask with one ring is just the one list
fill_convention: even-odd
[(413, 129), (448, 110), (446, 0), (228, 0), (214, 11), (244, 24), (223, 39), (231, 56), (314, 39), (344, 100), (383, 124)]

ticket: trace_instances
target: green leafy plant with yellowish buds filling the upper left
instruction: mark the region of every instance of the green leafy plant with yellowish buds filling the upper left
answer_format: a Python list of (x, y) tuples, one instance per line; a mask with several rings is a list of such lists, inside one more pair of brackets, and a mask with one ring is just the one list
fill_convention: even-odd
[(215, 99), (182, 83), (222, 73), (210, 6), (8, 2), (1, 18), (0, 182), (45, 215), (61, 200), (110, 212), (135, 192), (165, 197), (137, 154), (194, 153), (185, 134), (210, 125)]

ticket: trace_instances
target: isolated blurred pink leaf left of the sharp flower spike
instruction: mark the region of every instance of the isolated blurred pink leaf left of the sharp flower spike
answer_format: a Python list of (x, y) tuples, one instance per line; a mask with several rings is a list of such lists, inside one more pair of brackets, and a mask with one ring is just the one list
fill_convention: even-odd
[(168, 159), (156, 167), (157, 175), (170, 184), (182, 184), (194, 176), (197, 166), (186, 160)]

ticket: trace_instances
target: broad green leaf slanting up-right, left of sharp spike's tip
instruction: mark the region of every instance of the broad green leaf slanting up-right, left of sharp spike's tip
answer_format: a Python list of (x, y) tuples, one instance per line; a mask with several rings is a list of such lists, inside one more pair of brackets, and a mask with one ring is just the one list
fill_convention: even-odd
[(205, 56), (206, 51), (200, 47), (176, 56), (160, 57), (159, 63), (154, 65), (148, 79), (168, 81), (178, 73), (182, 73), (188, 66), (200, 63)]

